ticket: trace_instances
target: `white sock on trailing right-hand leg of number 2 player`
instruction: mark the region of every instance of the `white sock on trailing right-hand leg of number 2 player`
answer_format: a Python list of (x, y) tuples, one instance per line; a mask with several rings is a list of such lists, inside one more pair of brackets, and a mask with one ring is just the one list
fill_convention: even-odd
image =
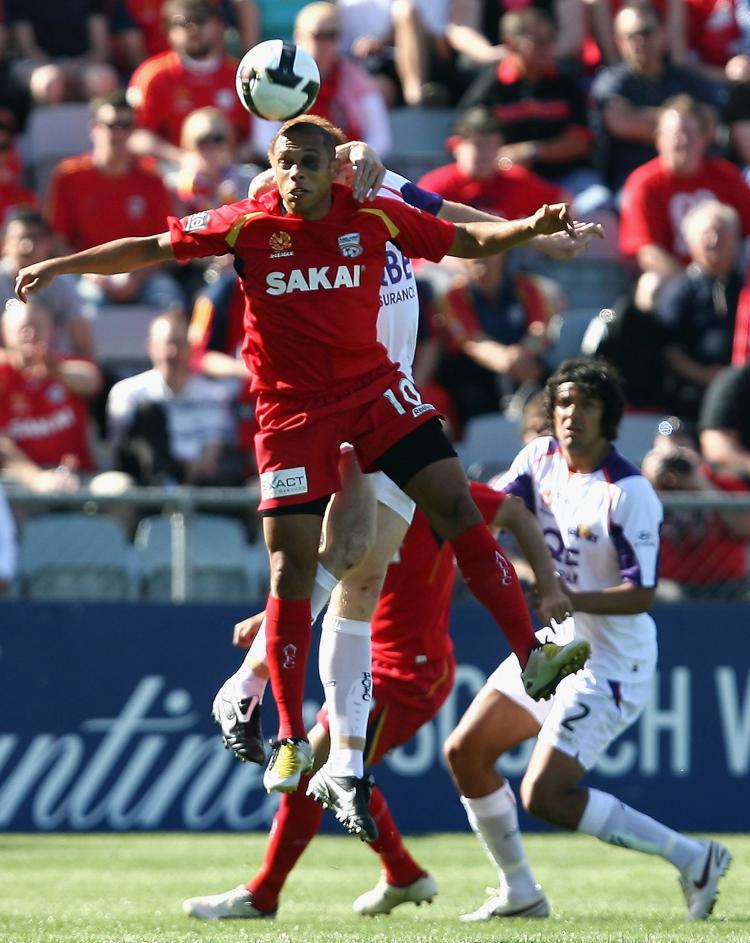
[(660, 855), (680, 871), (685, 871), (703, 851), (701, 842), (667, 828), (598, 789), (589, 789), (589, 801), (578, 823), (578, 831), (594, 835), (610, 845), (632, 848), (647, 855)]

